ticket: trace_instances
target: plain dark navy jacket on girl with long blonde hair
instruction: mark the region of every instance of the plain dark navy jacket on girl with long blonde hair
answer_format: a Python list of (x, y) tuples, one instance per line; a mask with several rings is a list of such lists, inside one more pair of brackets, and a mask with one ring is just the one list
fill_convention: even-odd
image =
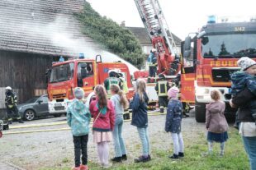
[(144, 93), (145, 101), (140, 100), (139, 94), (135, 94), (133, 101), (130, 103), (132, 109), (131, 125), (145, 128), (148, 126), (148, 102), (149, 98)]

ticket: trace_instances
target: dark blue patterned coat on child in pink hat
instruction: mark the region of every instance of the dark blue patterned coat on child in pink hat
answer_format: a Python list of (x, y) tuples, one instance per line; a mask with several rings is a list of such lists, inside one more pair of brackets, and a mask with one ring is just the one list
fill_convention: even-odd
[(171, 99), (168, 103), (168, 110), (165, 121), (165, 131), (180, 133), (183, 118), (183, 104), (177, 99)]

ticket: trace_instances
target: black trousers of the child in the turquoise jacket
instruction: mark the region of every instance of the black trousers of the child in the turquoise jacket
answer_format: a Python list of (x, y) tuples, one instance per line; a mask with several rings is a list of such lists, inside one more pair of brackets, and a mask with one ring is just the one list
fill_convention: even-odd
[(87, 144), (88, 144), (88, 135), (73, 136), (75, 167), (80, 166), (81, 150), (82, 150), (82, 163), (83, 165), (87, 165), (88, 163)]

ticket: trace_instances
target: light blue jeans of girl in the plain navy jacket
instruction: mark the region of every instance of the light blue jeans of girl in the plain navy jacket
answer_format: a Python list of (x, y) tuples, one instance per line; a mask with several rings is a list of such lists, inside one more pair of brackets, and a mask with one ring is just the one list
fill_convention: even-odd
[(148, 156), (150, 152), (148, 127), (145, 127), (145, 128), (137, 127), (137, 130), (139, 132), (140, 141), (142, 143), (143, 156)]

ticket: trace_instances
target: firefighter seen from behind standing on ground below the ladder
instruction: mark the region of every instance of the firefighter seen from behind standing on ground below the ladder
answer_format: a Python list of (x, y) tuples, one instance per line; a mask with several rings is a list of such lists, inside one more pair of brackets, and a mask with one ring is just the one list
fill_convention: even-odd
[(164, 113), (164, 108), (168, 106), (167, 92), (170, 89), (170, 85), (168, 84), (168, 81), (165, 79), (163, 74), (159, 75), (159, 81), (156, 83), (154, 89), (159, 96), (160, 113)]

